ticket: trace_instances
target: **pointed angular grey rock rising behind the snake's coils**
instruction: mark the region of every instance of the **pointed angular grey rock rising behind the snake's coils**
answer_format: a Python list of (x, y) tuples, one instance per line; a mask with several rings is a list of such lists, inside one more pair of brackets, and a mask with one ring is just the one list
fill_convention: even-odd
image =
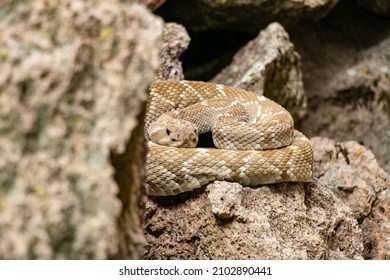
[(300, 57), (278, 23), (261, 31), (211, 81), (265, 95), (285, 107), (297, 123), (306, 114)]

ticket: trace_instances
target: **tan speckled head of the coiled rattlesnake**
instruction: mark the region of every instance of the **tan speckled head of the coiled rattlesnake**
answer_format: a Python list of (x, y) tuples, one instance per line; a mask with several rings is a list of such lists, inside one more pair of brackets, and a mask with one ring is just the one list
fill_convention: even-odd
[(198, 144), (198, 128), (195, 124), (163, 115), (147, 129), (149, 140), (168, 147), (195, 148)]

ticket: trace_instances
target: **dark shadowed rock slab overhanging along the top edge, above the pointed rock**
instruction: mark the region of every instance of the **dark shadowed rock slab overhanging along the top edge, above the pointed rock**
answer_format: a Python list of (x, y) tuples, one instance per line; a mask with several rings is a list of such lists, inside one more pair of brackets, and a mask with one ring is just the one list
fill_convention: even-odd
[(338, 0), (302, 1), (167, 1), (157, 12), (166, 21), (183, 24), (191, 31), (210, 29), (256, 33), (273, 21), (291, 24), (325, 17)]

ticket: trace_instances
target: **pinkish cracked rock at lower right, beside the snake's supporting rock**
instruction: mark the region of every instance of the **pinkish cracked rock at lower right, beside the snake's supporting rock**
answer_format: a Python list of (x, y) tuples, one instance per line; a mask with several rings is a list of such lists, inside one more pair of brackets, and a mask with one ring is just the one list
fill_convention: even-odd
[(363, 231), (365, 259), (390, 259), (390, 175), (354, 141), (311, 139), (315, 177), (348, 205)]

